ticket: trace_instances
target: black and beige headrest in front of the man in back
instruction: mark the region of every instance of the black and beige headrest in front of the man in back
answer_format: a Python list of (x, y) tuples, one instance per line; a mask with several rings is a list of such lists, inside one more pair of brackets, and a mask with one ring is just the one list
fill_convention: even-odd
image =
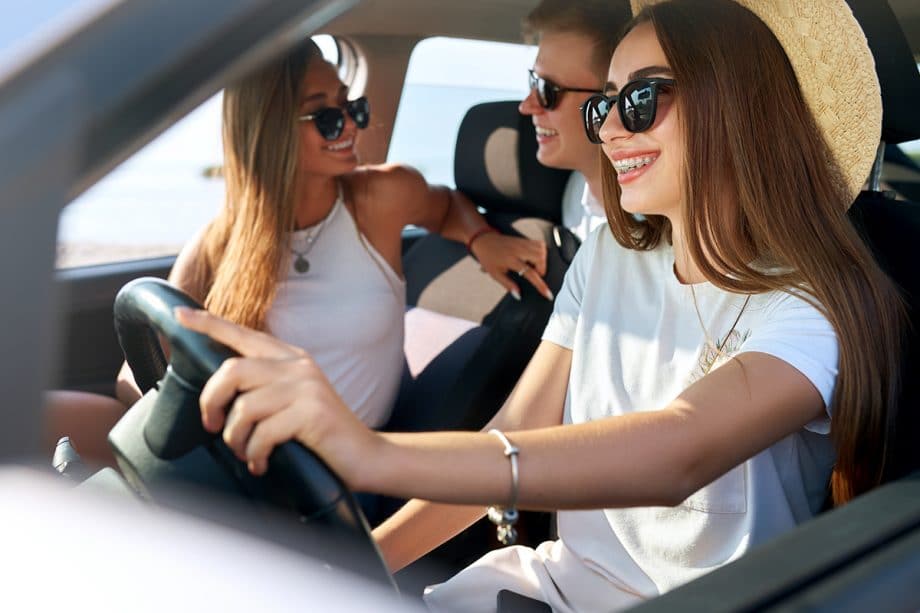
[(570, 171), (537, 161), (533, 123), (517, 107), (517, 101), (486, 102), (467, 111), (457, 132), (454, 182), (489, 212), (559, 223)]

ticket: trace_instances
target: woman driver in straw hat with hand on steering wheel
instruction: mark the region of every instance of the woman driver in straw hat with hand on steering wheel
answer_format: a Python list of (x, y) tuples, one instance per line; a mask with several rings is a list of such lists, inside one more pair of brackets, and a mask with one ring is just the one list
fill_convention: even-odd
[(638, 4), (586, 107), (610, 225), (487, 432), (374, 432), (300, 349), (177, 312), (249, 356), (201, 408), (253, 472), (296, 439), (356, 490), (419, 499), (375, 531), (393, 570), (486, 505), (506, 541), (515, 507), (560, 510), (558, 540), (489, 553), (433, 610), (503, 589), (627, 607), (813, 516), (828, 482), (840, 504), (881, 479), (905, 324), (845, 215), (881, 128), (859, 25), (845, 0)]

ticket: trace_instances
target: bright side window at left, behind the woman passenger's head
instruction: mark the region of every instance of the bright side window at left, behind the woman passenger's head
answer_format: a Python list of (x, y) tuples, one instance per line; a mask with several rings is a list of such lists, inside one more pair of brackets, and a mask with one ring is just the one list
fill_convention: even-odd
[[(335, 40), (314, 37), (337, 63)], [(57, 267), (175, 255), (223, 204), (221, 94), (207, 100), (70, 203)]]

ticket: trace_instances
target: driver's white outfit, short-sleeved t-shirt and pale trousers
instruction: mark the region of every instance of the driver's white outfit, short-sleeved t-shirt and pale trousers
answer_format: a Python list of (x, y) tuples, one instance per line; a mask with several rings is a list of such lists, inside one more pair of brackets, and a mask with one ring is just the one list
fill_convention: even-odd
[[(707, 331), (727, 355), (784, 360), (830, 406), (837, 340), (817, 309), (771, 292), (752, 296), (739, 317), (744, 296), (699, 283), (697, 314), (673, 263), (670, 247), (626, 249), (606, 225), (579, 249), (543, 335), (572, 350), (565, 423), (663, 408), (726, 359), (713, 360)], [(609, 611), (672, 589), (815, 514), (834, 461), (829, 425), (829, 416), (812, 422), (673, 508), (559, 512), (558, 541), (492, 552), (426, 601), (436, 611), (482, 610), (506, 588), (557, 611)]]

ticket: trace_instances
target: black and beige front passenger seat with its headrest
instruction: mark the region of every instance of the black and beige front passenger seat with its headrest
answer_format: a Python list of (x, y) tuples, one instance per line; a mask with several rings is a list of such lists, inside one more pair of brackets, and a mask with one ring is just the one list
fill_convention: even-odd
[[(540, 165), (517, 102), (472, 107), (457, 134), (457, 188), (501, 232), (547, 243), (545, 280), (558, 292), (578, 240), (557, 224), (568, 171)], [(521, 300), (483, 273), (459, 243), (430, 234), (403, 259), (407, 368), (387, 426), (476, 429), (504, 402), (540, 341), (552, 303), (529, 284)]]

